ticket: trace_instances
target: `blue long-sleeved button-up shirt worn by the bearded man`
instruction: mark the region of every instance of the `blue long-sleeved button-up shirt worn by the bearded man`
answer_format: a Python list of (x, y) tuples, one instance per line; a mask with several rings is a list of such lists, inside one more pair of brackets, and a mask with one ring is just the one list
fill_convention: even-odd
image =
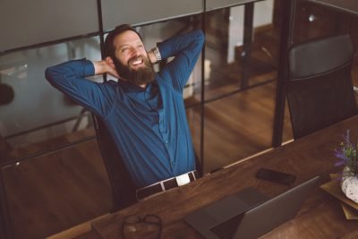
[(175, 58), (144, 89), (121, 80), (103, 83), (86, 80), (95, 73), (88, 60), (49, 67), (46, 78), (103, 119), (134, 184), (141, 188), (195, 169), (183, 88), (203, 42), (201, 30), (193, 30), (159, 43), (163, 59)]

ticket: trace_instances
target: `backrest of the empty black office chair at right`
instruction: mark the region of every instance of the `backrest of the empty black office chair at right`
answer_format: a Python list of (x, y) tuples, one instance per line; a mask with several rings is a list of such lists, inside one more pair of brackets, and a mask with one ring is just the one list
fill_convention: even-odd
[(294, 139), (357, 114), (348, 35), (317, 38), (289, 50), (287, 100)]

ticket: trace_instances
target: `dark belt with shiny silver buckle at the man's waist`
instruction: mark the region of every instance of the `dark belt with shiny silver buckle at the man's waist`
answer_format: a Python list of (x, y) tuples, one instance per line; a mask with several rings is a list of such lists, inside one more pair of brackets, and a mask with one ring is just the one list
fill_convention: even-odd
[(164, 192), (166, 190), (182, 186), (184, 184), (189, 184), (192, 181), (195, 181), (199, 178), (198, 172), (196, 170), (183, 174), (178, 175), (169, 179), (166, 179), (164, 181), (158, 182), (156, 184), (151, 184), (147, 187), (138, 189), (136, 191), (137, 194), (137, 200), (140, 201), (150, 195), (153, 195), (158, 192)]

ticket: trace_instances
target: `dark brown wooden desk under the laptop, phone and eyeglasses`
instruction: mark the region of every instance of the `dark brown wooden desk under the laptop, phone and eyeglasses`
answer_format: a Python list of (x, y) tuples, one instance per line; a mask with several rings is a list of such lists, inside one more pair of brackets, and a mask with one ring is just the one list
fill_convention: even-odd
[[(341, 141), (347, 129), (352, 140), (358, 140), (358, 115), (344, 122), (312, 133), (283, 147), (230, 166), (213, 175), (183, 187), (153, 197), (92, 222), (91, 234), (99, 238), (121, 238), (120, 228), (124, 216), (156, 214), (162, 218), (162, 238), (201, 238), (183, 217), (194, 209), (221, 200), (246, 186), (254, 186), (270, 196), (285, 192), (288, 187), (259, 180), (255, 173), (261, 166), (297, 175), (295, 184), (301, 184), (314, 175), (327, 175), (340, 169), (333, 147)], [(268, 215), (269, 217), (269, 215)], [(277, 227), (262, 238), (357, 238), (358, 221), (345, 220), (337, 200), (317, 188), (303, 203), (297, 216)], [(87, 237), (79, 237), (87, 238)], [(90, 237), (88, 237), (90, 238)]]

